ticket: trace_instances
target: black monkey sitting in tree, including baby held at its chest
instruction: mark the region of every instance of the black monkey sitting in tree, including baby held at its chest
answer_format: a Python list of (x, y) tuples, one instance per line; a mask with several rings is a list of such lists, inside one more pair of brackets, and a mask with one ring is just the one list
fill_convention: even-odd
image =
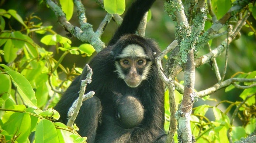
[[(164, 87), (155, 64), (160, 50), (153, 40), (134, 35), (154, 1), (132, 3), (109, 46), (89, 62), (93, 76), (86, 93), (95, 95), (83, 102), (75, 121), (88, 143), (165, 142)], [(54, 107), (61, 122), (67, 123), (86, 75), (85, 69)]]

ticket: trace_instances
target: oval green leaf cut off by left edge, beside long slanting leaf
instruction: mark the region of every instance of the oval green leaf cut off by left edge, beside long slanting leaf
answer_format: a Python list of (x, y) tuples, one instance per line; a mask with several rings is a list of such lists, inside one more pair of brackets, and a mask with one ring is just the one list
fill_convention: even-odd
[(6, 100), (11, 93), (11, 78), (9, 75), (0, 74), (0, 97)]

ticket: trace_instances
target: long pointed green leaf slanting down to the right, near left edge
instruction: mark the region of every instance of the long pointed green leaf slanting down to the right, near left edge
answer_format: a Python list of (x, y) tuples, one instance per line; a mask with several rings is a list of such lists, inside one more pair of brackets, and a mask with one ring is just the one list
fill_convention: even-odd
[(32, 89), (32, 86), (28, 82), (28, 80), (18, 73), (17, 71), (7, 71), (7, 74), (11, 76), (15, 86), (18, 89), (18, 93), (20, 94), (23, 102), (28, 107), (37, 108), (37, 99), (35, 98), (35, 92)]

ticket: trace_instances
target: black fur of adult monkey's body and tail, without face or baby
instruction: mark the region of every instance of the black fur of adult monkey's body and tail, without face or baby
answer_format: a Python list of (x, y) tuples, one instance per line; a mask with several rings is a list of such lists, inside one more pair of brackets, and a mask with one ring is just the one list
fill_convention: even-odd
[[(103, 49), (89, 62), (93, 69), (93, 76), (92, 82), (87, 85), (86, 93), (94, 91), (95, 95), (83, 102), (75, 121), (80, 129), (79, 134), (86, 136), (88, 143), (165, 142), (164, 87), (154, 62), (160, 50), (153, 40), (133, 35), (143, 15), (154, 1), (136, 0), (110, 40), (110, 46)], [(124, 80), (118, 78), (114, 65), (117, 56), (129, 44), (138, 44), (143, 47), (149, 57), (148, 60), (153, 62), (148, 78), (135, 88), (127, 86)], [(67, 123), (67, 112), (79, 96), (80, 83), (82, 79), (86, 78), (86, 75), (87, 70), (85, 69), (81, 75), (75, 78), (54, 107), (61, 115), (59, 121)], [(143, 107), (143, 119), (134, 128), (126, 129), (117, 120), (118, 110), (116, 108), (120, 104), (118, 104), (116, 93), (136, 97), (138, 104)], [(126, 101), (124, 100), (122, 103), (125, 104)]]

